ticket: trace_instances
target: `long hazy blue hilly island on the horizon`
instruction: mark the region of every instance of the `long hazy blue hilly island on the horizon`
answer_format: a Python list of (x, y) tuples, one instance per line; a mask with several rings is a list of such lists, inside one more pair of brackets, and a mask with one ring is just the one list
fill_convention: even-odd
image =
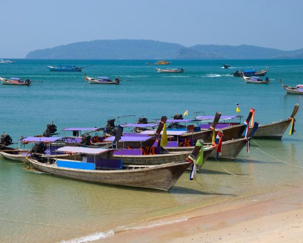
[(29, 59), (303, 59), (303, 49), (282, 51), (273, 48), (240, 45), (195, 45), (116, 39), (78, 42), (29, 52)]

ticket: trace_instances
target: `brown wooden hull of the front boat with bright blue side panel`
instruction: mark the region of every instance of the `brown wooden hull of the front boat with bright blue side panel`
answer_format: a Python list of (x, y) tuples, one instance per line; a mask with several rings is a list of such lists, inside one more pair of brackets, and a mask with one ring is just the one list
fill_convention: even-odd
[(28, 160), (35, 170), (61, 177), (160, 190), (170, 190), (190, 164), (189, 162), (183, 162), (133, 170), (89, 171), (46, 165), (33, 158)]

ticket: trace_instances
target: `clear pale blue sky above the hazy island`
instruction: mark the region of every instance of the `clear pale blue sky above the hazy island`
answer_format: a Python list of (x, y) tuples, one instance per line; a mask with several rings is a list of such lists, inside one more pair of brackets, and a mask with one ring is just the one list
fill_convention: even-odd
[(0, 58), (94, 39), (303, 48), (301, 0), (0, 0)]

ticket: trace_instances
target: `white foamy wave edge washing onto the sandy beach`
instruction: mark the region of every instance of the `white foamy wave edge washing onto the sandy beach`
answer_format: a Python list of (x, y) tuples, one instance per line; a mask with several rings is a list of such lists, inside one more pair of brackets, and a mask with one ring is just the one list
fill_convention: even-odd
[(156, 221), (156, 222), (153, 222), (150, 224), (144, 223), (144, 224), (133, 224), (133, 225), (128, 225), (128, 226), (119, 226), (116, 228), (115, 231), (109, 230), (107, 232), (92, 233), (92, 234), (85, 235), (85, 236), (79, 237), (79, 238), (63, 240), (63, 241), (61, 241), (61, 243), (86, 243), (86, 242), (91, 242), (91, 241), (95, 241), (98, 239), (107, 238), (118, 232), (124, 232), (124, 231), (135, 230), (135, 229), (147, 229), (147, 228), (152, 228), (152, 227), (157, 227), (157, 226), (162, 226), (162, 225), (179, 223), (179, 222), (186, 221), (186, 220), (188, 220), (188, 219), (182, 218), (182, 219), (175, 219), (175, 220), (168, 220), (168, 221)]

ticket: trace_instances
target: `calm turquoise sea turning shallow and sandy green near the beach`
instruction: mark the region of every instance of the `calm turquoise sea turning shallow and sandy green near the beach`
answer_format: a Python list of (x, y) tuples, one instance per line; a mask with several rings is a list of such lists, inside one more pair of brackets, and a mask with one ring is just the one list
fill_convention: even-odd
[[(40, 134), (54, 121), (58, 130), (65, 127), (104, 126), (106, 120), (134, 114), (149, 120), (161, 115), (173, 116), (186, 109), (213, 115), (241, 114), (256, 108), (260, 124), (287, 118), (303, 96), (286, 95), (278, 82), (303, 84), (302, 60), (230, 60), (230, 69), (222, 61), (176, 61), (170, 68), (184, 73), (157, 73), (150, 60), (17, 60), (0, 64), (0, 76), (18, 76), (43, 80), (31, 87), (0, 86), (0, 130), (14, 141), (20, 135)], [(49, 72), (46, 65), (73, 64), (87, 67), (82, 72)], [(229, 74), (237, 69), (270, 66), (270, 85), (245, 84)], [(167, 66), (165, 66), (167, 67)], [(92, 85), (88, 76), (119, 76), (121, 85)], [(300, 108), (302, 109), (302, 107)], [(295, 130), (303, 135), (303, 112), (296, 115)], [(264, 152), (287, 163), (303, 166), (303, 139), (288, 130), (282, 140), (258, 140)], [(0, 157), (0, 241), (61, 242), (82, 236), (74, 242), (100, 238), (128, 227), (137, 227), (148, 219), (232, 200), (285, 187), (300, 186), (303, 169), (286, 165), (257, 150), (254, 142), (235, 161), (207, 161), (198, 173), (198, 181), (185, 173), (170, 192), (113, 187), (58, 178), (25, 171), (23, 165)], [(224, 169), (239, 175), (235, 177)], [(260, 180), (257, 178), (269, 180)], [(181, 219), (182, 220), (182, 219)], [(89, 236), (98, 233), (95, 236)], [(103, 232), (103, 233), (102, 233)]]

